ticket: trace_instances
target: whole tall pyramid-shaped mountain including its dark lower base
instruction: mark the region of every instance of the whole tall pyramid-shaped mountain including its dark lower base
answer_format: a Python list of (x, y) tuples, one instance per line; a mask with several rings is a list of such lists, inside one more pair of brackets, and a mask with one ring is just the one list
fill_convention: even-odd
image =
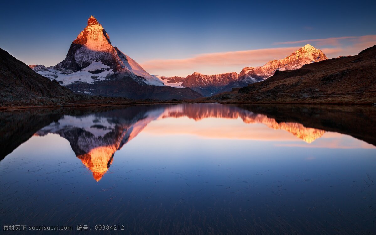
[(93, 16), (72, 42), (62, 62), (53, 67), (30, 65), (30, 68), (73, 91), (86, 94), (132, 99), (200, 97), (186, 88), (158, 88), (165, 86), (161, 79), (147, 73), (136, 61), (114, 47), (106, 30)]

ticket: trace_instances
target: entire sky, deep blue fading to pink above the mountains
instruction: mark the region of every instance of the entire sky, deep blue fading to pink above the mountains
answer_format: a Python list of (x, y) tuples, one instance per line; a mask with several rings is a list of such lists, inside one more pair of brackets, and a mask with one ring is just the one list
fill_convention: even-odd
[(94, 15), (112, 45), (149, 73), (240, 73), (311, 44), (329, 58), (376, 44), (375, 1), (9, 1), (0, 47), (56, 65)]

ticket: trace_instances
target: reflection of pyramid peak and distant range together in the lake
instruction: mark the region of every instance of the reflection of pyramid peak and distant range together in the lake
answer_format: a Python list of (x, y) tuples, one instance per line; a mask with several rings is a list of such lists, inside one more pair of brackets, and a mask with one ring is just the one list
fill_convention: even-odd
[[(129, 112), (132, 115), (129, 115)], [(236, 106), (190, 104), (136, 106), (84, 116), (64, 115), (58, 121), (43, 127), (35, 135), (55, 133), (67, 139), (77, 158), (92, 171), (94, 179), (99, 181), (112, 164), (117, 150), (135, 138), (150, 122), (170, 117), (188, 117), (195, 121), (204, 118), (241, 118), (247, 124), (262, 123), (274, 130), (285, 130), (307, 143), (325, 133), (324, 130), (304, 127), (299, 123), (277, 123), (274, 118)]]

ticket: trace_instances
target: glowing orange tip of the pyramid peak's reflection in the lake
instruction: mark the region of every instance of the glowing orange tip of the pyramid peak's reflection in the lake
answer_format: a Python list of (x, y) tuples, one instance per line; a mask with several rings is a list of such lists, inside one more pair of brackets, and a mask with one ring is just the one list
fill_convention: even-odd
[(116, 146), (100, 146), (77, 157), (92, 171), (94, 179), (98, 182), (112, 164), (116, 150)]

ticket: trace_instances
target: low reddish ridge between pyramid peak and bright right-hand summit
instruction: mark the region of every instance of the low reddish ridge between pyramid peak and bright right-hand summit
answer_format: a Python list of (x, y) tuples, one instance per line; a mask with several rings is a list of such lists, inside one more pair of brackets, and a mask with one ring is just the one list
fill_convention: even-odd
[(205, 75), (194, 72), (186, 77), (161, 77), (166, 85), (179, 84), (180, 87), (189, 87), (203, 96), (212, 96), (220, 91), (229, 82), (238, 78), (237, 73)]

